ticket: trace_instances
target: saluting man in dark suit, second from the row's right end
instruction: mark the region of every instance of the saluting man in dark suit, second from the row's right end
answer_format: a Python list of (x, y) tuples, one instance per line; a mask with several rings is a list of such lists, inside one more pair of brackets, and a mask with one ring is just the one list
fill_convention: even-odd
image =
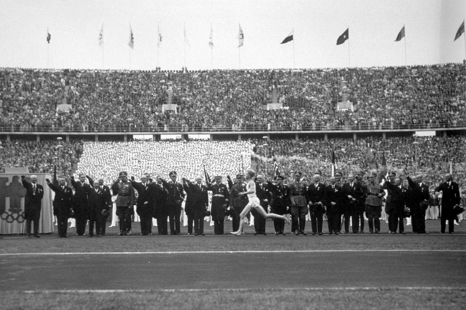
[(408, 180), (408, 205), (411, 210), (412, 232), (415, 234), (428, 234), (425, 231), (425, 210), (429, 204), (429, 186), (422, 183), (422, 175), (413, 179), (406, 173)]

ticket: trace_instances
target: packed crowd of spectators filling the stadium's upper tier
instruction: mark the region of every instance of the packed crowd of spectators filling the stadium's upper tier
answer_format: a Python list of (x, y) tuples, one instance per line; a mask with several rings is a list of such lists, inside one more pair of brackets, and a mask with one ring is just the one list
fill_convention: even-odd
[[(0, 127), (398, 129), (466, 116), (464, 64), (205, 71), (0, 69)], [(337, 111), (342, 79), (356, 111)], [(287, 109), (263, 110), (272, 90)], [(65, 91), (66, 90), (66, 91)], [(161, 111), (172, 92), (177, 113)], [(66, 98), (70, 111), (56, 111)]]

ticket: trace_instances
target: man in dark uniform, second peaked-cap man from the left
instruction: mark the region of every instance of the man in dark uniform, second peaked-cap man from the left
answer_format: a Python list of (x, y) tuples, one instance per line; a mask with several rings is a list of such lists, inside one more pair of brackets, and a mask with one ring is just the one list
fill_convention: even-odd
[(168, 218), (170, 220), (170, 233), (171, 235), (180, 235), (180, 216), (181, 216), (181, 203), (185, 199), (183, 186), (176, 181), (178, 175), (175, 171), (168, 173), (170, 181), (162, 179), (162, 183), (168, 191), (167, 207)]

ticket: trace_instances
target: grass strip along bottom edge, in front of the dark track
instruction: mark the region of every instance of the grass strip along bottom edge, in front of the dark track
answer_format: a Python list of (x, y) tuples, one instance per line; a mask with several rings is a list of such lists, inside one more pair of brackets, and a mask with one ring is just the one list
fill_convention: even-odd
[(213, 291), (0, 292), (4, 310), (464, 309), (466, 289), (245, 289)]

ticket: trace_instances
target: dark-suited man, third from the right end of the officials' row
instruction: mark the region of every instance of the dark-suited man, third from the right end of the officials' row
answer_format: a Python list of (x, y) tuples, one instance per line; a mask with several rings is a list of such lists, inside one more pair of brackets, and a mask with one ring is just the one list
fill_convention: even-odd
[[(393, 172), (394, 173), (394, 172)], [(397, 233), (397, 227), (399, 222), (399, 233), (406, 234), (404, 232), (404, 210), (406, 207), (406, 194), (408, 189), (401, 184), (401, 178), (393, 178), (385, 181), (382, 188), (387, 189), (390, 195), (390, 205), (387, 202), (386, 206), (389, 205), (389, 209), (385, 207), (385, 211), (388, 214), (388, 226), (392, 234)]]

